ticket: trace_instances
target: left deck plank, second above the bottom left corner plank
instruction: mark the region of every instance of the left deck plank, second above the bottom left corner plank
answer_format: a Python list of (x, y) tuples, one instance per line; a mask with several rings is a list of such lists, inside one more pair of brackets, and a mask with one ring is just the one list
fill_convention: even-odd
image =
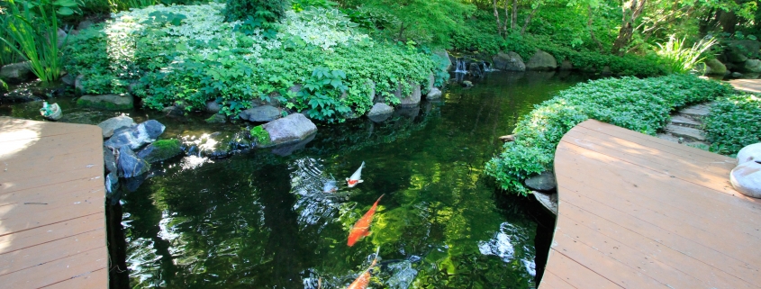
[(23, 230), (14, 234), (0, 237), (0, 254), (32, 248), (57, 239), (78, 235), (90, 230), (105, 228), (105, 218), (102, 213), (94, 213), (81, 218), (57, 222), (32, 230)]

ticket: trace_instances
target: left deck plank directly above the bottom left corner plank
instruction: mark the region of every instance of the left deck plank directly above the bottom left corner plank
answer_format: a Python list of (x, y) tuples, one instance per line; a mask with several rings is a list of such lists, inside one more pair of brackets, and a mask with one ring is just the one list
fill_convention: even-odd
[[(39, 266), (66, 257), (72, 257), (94, 248), (105, 247), (105, 228), (57, 239), (48, 243), (0, 253), (0, 276)], [(37, 254), (44, 252), (44, 254)]]

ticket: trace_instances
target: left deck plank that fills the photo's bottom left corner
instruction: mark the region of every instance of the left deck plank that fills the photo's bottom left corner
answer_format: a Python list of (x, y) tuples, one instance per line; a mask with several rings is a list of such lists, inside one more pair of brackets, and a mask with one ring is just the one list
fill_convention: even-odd
[[(93, 248), (77, 255), (34, 266), (32, 269), (0, 275), (0, 284), (6, 288), (40, 288), (68, 279), (77, 278), (108, 267), (106, 248)], [(104, 272), (107, 273), (107, 272)], [(98, 274), (104, 274), (98, 272)], [(100, 288), (106, 287), (102, 284)]]

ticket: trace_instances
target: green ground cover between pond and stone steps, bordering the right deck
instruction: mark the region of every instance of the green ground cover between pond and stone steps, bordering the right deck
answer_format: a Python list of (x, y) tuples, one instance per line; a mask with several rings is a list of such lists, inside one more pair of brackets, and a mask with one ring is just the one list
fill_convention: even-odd
[(576, 124), (595, 119), (655, 135), (669, 113), (686, 104), (728, 95), (729, 86), (690, 75), (639, 79), (606, 78), (558, 93), (521, 118), (503, 152), (486, 163), (485, 172), (515, 194), (529, 194), (522, 181), (552, 169), (557, 143)]

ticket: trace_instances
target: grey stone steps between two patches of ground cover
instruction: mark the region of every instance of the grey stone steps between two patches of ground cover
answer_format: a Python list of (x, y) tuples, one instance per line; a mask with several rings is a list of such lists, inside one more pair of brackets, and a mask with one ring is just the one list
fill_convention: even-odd
[(702, 131), (701, 125), (702, 118), (711, 112), (712, 104), (695, 104), (672, 114), (671, 122), (666, 124), (665, 131), (658, 133), (657, 137), (691, 147), (707, 147), (708, 142), (705, 141), (705, 131)]

